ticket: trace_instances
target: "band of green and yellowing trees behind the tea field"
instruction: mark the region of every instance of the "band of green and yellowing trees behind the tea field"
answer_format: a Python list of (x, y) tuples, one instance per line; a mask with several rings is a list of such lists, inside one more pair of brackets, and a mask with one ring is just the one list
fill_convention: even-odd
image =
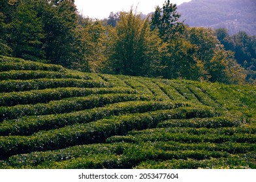
[(254, 81), (253, 66), (248, 74), (212, 29), (185, 26), (170, 1), (148, 18), (131, 10), (102, 21), (80, 16), (72, 0), (1, 0), (0, 8), (1, 55), (84, 72)]

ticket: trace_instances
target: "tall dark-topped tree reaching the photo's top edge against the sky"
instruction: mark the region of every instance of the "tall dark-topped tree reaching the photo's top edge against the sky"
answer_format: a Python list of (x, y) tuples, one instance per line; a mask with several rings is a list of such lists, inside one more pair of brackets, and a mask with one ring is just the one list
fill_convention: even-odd
[(179, 21), (177, 6), (165, 1), (163, 8), (157, 6), (152, 15), (152, 30), (157, 29), (163, 42), (167, 44), (167, 53), (163, 56), (163, 70), (160, 73), (168, 79), (199, 79), (195, 46), (185, 40), (185, 25)]

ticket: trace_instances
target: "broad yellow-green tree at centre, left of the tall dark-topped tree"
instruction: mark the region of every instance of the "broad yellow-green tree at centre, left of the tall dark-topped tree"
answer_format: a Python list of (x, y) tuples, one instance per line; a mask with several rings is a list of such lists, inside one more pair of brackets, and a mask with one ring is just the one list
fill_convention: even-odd
[(156, 31), (150, 31), (148, 18), (142, 20), (133, 10), (121, 12), (110, 56), (114, 72), (137, 76), (153, 74), (150, 68), (161, 60), (159, 57), (163, 48), (156, 34)]

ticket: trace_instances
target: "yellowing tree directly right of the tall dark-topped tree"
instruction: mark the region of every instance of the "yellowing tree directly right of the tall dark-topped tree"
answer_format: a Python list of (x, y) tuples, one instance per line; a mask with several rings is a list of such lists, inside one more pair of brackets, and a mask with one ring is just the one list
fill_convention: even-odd
[(228, 84), (244, 82), (244, 69), (236, 63), (232, 52), (224, 49), (212, 29), (189, 28), (186, 39), (197, 49), (195, 56), (201, 64), (203, 79)]

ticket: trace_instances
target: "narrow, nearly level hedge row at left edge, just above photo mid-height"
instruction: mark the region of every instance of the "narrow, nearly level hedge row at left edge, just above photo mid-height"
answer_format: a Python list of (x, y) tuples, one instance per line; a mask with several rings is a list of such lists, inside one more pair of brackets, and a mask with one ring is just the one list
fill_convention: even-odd
[(107, 83), (82, 79), (35, 79), (35, 80), (7, 80), (0, 81), (0, 92), (22, 92), (26, 90), (40, 90), (45, 88), (107, 87)]

